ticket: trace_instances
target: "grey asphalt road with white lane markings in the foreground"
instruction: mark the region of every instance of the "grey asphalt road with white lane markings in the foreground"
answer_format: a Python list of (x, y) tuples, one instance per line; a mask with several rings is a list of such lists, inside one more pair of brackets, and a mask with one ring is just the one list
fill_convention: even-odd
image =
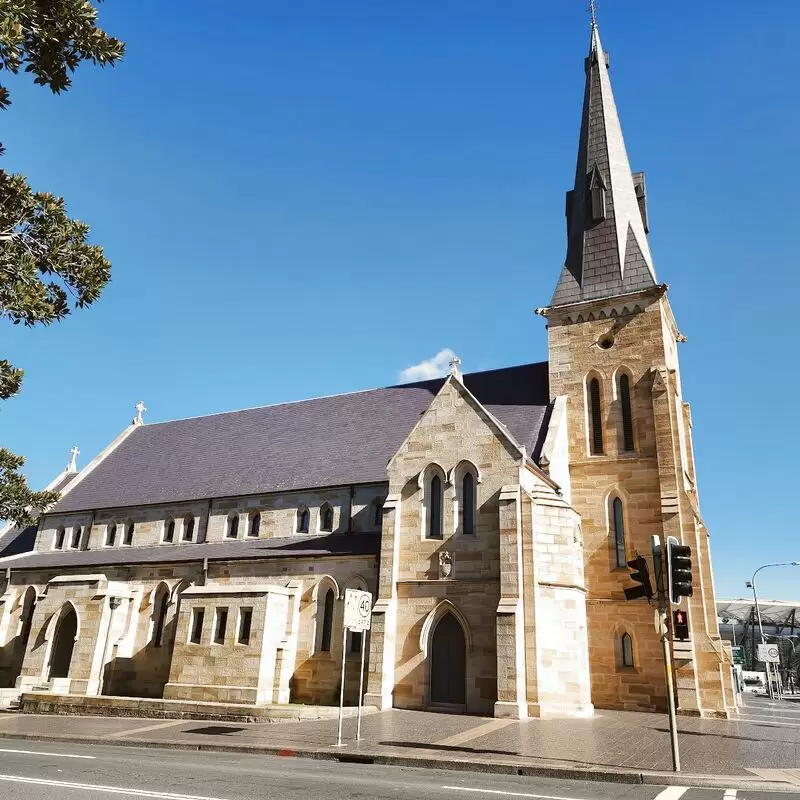
[(300, 758), (0, 741), (3, 800), (765, 800), (798, 794), (482, 775)]

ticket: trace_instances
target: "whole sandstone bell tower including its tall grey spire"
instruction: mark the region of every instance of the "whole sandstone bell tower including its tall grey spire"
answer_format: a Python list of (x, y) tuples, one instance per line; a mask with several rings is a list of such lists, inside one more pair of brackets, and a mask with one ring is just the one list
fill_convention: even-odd
[[(688, 603), (693, 657), (676, 662), (683, 713), (734, 708), (730, 652), (720, 640), (709, 535), (700, 514), (684, 341), (656, 279), (642, 173), (632, 173), (596, 22), (586, 59), (567, 256), (547, 318), (551, 400), (566, 398), (570, 500), (580, 514), (592, 702), (663, 709), (664, 666), (653, 608), (627, 603), (626, 561), (653, 534), (692, 548)], [(563, 400), (557, 404), (563, 406)], [(684, 608), (687, 601), (684, 600)]]

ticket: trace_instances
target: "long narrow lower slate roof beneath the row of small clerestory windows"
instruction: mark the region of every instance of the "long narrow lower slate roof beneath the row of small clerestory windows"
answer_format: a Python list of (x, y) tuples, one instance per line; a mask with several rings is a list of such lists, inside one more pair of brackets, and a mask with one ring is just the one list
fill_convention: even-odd
[(380, 552), (380, 533), (290, 536), (278, 539), (239, 539), (204, 544), (115, 547), (99, 550), (59, 550), (18, 556), (11, 569), (107, 567), (122, 564), (174, 564), (186, 561), (229, 561), (252, 558), (314, 558), (361, 556)]

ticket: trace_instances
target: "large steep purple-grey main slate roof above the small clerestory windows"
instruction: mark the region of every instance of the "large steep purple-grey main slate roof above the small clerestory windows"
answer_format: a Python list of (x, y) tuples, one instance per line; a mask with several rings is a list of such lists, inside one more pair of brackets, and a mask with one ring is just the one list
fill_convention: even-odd
[[(377, 483), (444, 379), (146, 424), (50, 513)], [(547, 362), (464, 376), (538, 457), (549, 416)]]

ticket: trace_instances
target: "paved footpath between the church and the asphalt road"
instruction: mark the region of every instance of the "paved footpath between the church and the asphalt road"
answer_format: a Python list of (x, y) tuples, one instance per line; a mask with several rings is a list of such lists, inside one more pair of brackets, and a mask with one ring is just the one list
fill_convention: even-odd
[(575, 720), (514, 720), (392, 710), (336, 720), (208, 723), (0, 714), (0, 738), (267, 753), (345, 762), (462, 769), (651, 785), (797, 790), (800, 708), (751, 700), (737, 721), (681, 718), (683, 772), (671, 772), (667, 718), (598, 711)]

